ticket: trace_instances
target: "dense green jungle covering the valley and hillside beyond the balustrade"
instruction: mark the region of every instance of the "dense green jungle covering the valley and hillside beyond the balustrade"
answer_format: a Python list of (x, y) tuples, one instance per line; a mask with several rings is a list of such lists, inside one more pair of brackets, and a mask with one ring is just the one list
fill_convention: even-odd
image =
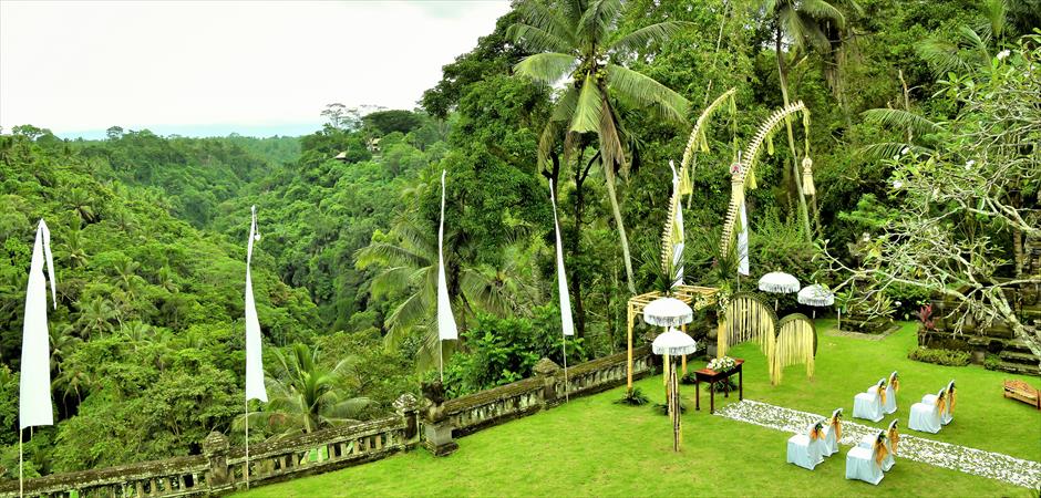
[[(28, 443), (27, 476), (197, 454), (210, 430), (243, 440), (252, 205), (274, 398), (255, 406), (254, 440), (390, 412), (435, 374), (442, 169), (462, 339), (446, 351), (453, 396), (525, 377), (544, 356), (563, 360), (550, 179), (577, 329), (569, 361), (625, 347), (630, 287), (660, 280), (669, 160), (679, 164), (694, 121), (731, 87), (734, 105), (709, 120), (683, 199), (689, 281), (735, 286), (733, 261), (719, 256), (730, 166), (786, 102), (805, 103), (808, 135), (796, 120), (759, 159), (746, 194), (748, 282), (781, 268), (841, 281), (822, 272), (824, 241), (839, 260), (860, 257), (854, 245), (915, 194), (900, 188), (909, 175), (976, 157), (967, 154), (988, 132), (981, 122), (1028, 120), (1013, 145), (1025, 173), (1000, 188), (1037, 210), (1035, 0), (630, 0), (583, 15), (575, 6), (585, 3), (518, 1), (414, 110), (330, 105), (307, 136), (4, 131), (0, 478), (17, 477), (22, 304), (40, 218), (56, 268), (56, 424)], [(804, 141), (815, 196), (800, 188)], [(994, 273), (1013, 276), (1023, 227), (991, 221), (950, 220), (959, 234), (986, 235)], [(875, 298), (884, 305), (870, 305), (907, 318), (928, 295), (888, 286)], [(710, 317), (700, 320), (699, 340)]]

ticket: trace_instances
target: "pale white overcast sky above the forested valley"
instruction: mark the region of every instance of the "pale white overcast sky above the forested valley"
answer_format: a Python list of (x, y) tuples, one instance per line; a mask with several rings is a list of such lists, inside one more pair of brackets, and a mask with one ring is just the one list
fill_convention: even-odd
[(471, 1), (0, 1), (0, 126), (299, 134), (413, 108), (509, 9)]

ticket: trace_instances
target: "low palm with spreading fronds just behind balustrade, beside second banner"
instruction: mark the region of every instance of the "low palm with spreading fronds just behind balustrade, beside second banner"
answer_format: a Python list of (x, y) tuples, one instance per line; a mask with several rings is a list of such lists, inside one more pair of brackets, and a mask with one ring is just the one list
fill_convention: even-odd
[[(312, 433), (334, 425), (354, 422), (372, 402), (349, 397), (342, 390), (346, 361), (331, 370), (320, 365), (318, 350), (293, 344), (288, 354), (275, 350), (275, 362), (268, 370), (268, 404), (264, 412), (249, 414), (250, 425), (266, 425), (282, 435)], [(245, 426), (245, 416), (235, 421)]]

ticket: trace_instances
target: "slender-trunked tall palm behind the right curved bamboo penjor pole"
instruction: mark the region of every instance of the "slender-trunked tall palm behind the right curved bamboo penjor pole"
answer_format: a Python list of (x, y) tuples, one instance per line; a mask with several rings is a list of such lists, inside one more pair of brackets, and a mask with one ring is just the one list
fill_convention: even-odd
[[(853, 0), (848, 3), (859, 10)], [(841, 44), (841, 37), (835, 34), (845, 28), (846, 18), (834, 4), (825, 0), (764, 0), (762, 3), (765, 14), (774, 21), (774, 50), (777, 58), (777, 77), (781, 82), (781, 96), (784, 106), (791, 103), (789, 97), (787, 65), (784, 62), (783, 45), (791, 43), (795, 52), (816, 51), (826, 56), (835, 54)], [(826, 70), (827, 74), (828, 71)], [(837, 81), (836, 79), (829, 79)], [(806, 208), (806, 195), (803, 194), (800, 181), (798, 153), (795, 152), (795, 137), (792, 133), (792, 122), (785, 120), (789, 148), (792, 151), (792, 173), (795, 190), (798, 193), (798, 214), (803, 221), (803, 229), (807, 239), (811, 236), (810, 212)], [(806, 138), (808, 139), (808, 137)]]

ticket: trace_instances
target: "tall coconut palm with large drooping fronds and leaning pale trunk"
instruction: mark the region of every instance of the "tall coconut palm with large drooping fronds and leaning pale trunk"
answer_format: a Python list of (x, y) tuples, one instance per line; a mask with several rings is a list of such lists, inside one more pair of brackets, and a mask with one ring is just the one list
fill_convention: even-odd
[(565, 157), (587, 145), (584, 135), (596, 135), (629, 292), (635, 294), (629, 240), (615, 193), (616, 168), (628, 176), (626, 153), (631, 152), (623, 139), (620, 107), (641, 107), (679, 123), (686, 118), (689, 103), (652, 77), (622, 65), (650, 43), (668, 40), (683, 23), (661, 22), (626, 32), (618, 29), (621, 10), (621, 0), (563, 0), (559, 9), (527, 0), (517, 6), (522, 21), (511, 27), (509, 34), (534, 53), (517, 63), (517, 74), (548, 84), (569, 76), (542, 132), (539, 164), (549, 156), (560, 132)]

